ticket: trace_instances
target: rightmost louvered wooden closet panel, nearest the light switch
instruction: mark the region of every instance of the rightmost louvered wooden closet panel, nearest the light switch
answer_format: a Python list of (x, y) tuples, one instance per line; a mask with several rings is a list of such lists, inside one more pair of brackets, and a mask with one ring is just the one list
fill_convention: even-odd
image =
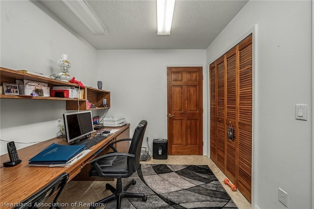
[(239, 44), (239, 163), (237, 187), (251, 202), (252, 35)]

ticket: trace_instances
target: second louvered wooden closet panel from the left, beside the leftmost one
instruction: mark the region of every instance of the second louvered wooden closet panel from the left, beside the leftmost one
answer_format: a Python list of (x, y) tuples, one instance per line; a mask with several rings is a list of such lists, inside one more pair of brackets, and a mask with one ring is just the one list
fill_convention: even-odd
[(217, 166), (225, 171), (225, 63), (224, 56), (216, 61), (217, 68)]

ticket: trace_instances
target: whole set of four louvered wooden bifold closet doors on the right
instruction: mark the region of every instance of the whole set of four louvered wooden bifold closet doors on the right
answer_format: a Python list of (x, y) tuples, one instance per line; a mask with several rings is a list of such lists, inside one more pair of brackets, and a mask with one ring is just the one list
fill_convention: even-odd
[[(210, 158), (251, 202), (252, 35), (209, 65)], [(227, 128), (234, 129), (233, 139)]]

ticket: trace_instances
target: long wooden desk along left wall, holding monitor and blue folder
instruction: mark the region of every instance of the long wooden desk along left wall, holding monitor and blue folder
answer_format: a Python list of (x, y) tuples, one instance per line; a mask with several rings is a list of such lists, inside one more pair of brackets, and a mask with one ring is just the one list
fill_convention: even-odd
[[(63, 141), (63, 138), (53, 138), (18, 150), (18, 155), (22, 162), (14, 167), (0, 168), (0, 208), (12, 208), (14, 203), (22, 202), (48, 183), (52, 182), (63, 172), (70, 174), (70, 181), (91, 159), (97, 156), (95, 154), (97, 154), (99, 150), (105, 149), (108, 144), (114, 140), (130, 137), (130, 124), (107, 129), (119, 129), (119, 131), (109, 135), (105, 140), (90, 148), (91, 152), (69, 167), (37, 167), (28, 165), (28, 160), (31, 157), (37, 155), (53, 142), (57, 144), (67, 144)], [(129, 148), (126, 147), (128, 145), (125, 144), (124, 146), (125, 147), (118, 147), (117, 149), (121, 152), (128, 151)], [(9, 160), (8, 154), (0, 156), (1, 166), (3, 166), (2, 163), (7, 160)]]

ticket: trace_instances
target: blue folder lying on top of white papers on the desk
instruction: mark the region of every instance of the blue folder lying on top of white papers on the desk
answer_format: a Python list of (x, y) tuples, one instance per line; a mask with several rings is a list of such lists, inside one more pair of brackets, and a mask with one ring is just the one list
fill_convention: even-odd
[(85, 149), (85, 145), (60, 145), (52, 143), (36, 156), (29, 159), (29, 164), (67, 163)]

